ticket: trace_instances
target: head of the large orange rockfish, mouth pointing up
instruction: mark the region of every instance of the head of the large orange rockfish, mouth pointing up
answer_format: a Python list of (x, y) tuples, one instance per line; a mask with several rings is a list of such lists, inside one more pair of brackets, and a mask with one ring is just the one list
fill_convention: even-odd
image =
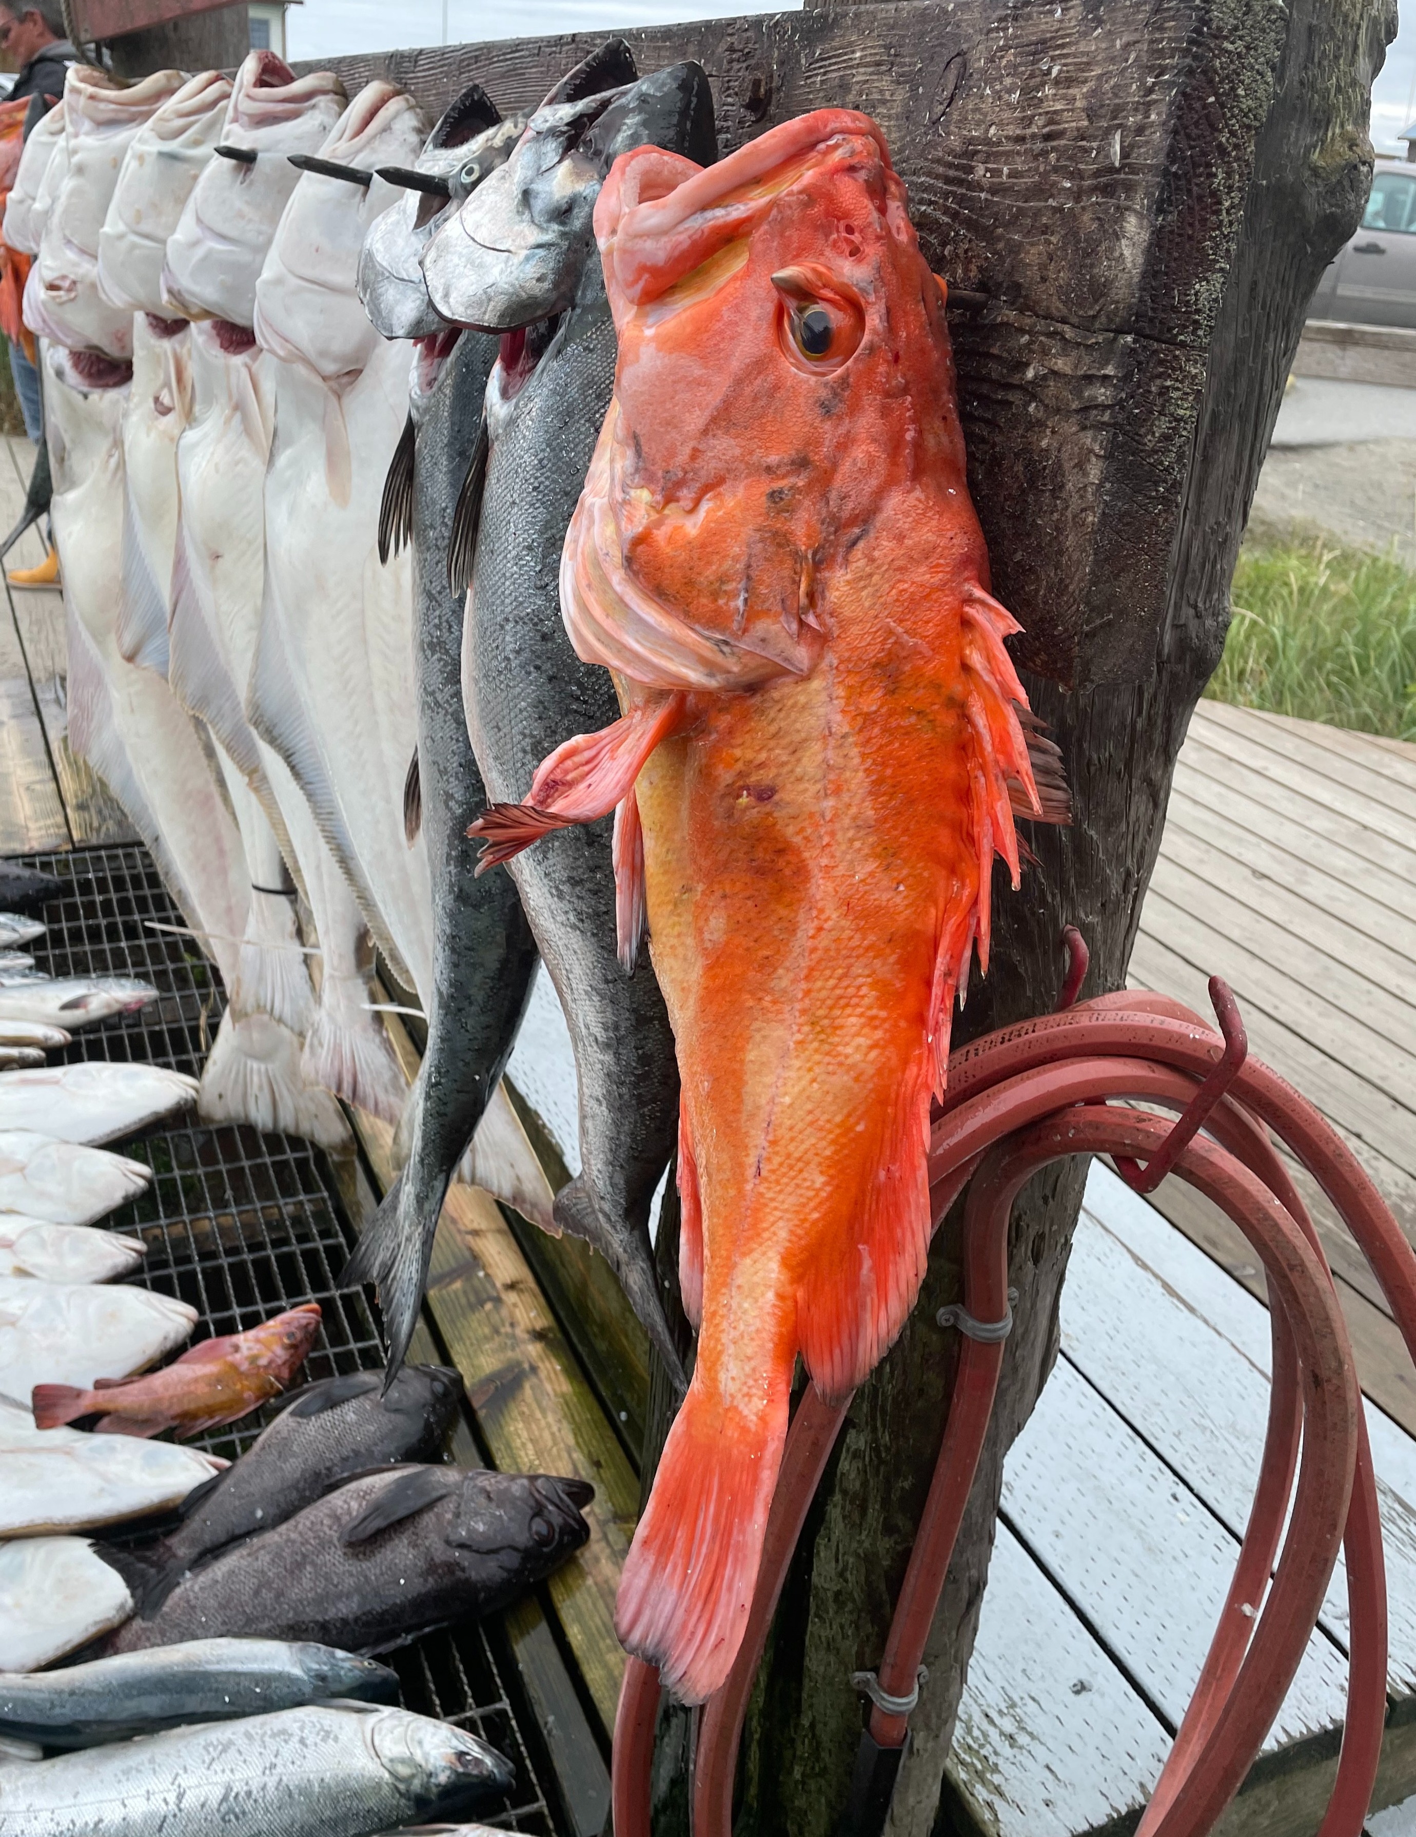
[(938, 514), (968, 503), (944, 294), (874, 121), (817, 110), (702, 171), (639, 149), (595, 230), (619, 364), (562, 562), (580, 656), (747, 689), (815, 665), (867, 535), (986, 568), (972, 511)]

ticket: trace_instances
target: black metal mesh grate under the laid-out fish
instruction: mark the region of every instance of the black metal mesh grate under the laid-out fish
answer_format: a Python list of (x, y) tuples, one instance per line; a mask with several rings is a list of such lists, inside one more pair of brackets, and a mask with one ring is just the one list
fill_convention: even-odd
[[(151, 856), (141, 847), (83, 849), (24, 856), (55, 874), (64, 896), (40, 917), (48, 937), (26, 950), (51, 975), (138, 975), (160, 990), (140, 1014), (73, 1036), (61, 1058), (145, 1060), (200, 1073), (206, 1045), (224, 1010), (213, 966), (195, 939), (152, 931), (145, 920), (180, 926)], [(309, 1143), (250, 1128), (200, 1124), (154, 1130), (116, 1143), (145, 1161), (154, 1179), (112, 1229), (141, 1236), (147, 1288), (176, 1295), (200, 1312), (195, 1335), (233, 1334), (281, 1308), (318, 1301), (320, 1337), (305, 1363), (310, 1380), (384, 1363), (376, 1310), (364, 1290), (336, 1288), (354, 1231), (329, 1159)], [(195, 1446), (235, 1459), (281, 1407), (242, 1418)], [(509, 1694), (514, 1666), (500, 1620), (466, 1622), (388, 1655), (404, 1705), (470, 1729), (516, 1767), (516, 1786), (483, 1822), (553, 1837), (540, 1741), (525, 1705)]]

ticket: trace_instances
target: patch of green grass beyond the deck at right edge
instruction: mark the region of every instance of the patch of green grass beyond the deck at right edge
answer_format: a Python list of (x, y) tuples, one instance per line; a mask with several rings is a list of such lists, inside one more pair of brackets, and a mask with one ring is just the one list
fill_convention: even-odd
[(1416, 573), (1322, 531), (1251, 533), (1205, 694), (1416, 740)]

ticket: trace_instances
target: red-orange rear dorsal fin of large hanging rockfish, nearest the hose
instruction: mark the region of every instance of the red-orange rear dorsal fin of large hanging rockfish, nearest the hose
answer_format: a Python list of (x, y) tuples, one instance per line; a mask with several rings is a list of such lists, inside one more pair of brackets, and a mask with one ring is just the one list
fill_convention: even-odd
[(920, 1042), (894, 1113), (860, 1185), (847, 1242), (819, 1258), (797, 1290), (797, 1343), (828, 1402), (847, 1398), (894, 1345), (929, 1257), (929, 1091), (933, 1056)]

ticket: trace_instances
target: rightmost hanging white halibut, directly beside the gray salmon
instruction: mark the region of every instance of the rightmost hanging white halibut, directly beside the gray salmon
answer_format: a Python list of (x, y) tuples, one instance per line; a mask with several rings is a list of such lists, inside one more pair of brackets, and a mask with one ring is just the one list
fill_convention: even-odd
[(285, 759), (354, 889), (378, 948), (426, 1012), (432, 893), (422, 838), (404, 836), (417, 744), (410, 558), (378, 564), (378, 503), (408, 417), (411, 347), (378, 336), (354, 290), (369, 224), (411, 165), (411, 96), (369, 83), (305, 173), (255, 287), (275, 439), (266, 470), (266, 603), (246, 713)]

